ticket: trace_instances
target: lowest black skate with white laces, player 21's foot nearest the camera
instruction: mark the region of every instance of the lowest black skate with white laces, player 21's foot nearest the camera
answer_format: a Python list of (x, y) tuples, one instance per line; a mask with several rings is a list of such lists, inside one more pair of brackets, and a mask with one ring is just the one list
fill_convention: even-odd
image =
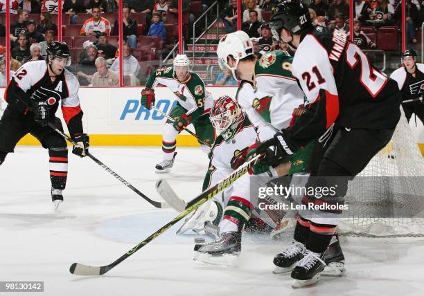
[(319, 281), (320, 274), (326, 266), (321, 257), (319, 253), (306, 250), (303, 259), (297, 262), (292, 270), (292, 288), (312, 286)]

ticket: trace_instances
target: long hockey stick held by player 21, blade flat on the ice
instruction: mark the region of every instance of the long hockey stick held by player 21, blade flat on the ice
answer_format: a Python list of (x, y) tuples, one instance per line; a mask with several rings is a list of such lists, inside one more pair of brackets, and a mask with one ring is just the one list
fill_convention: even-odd
[(222, 191), (223, 189), (229, 187), (234, 181), (236, 181), (238, 178), (240, 178), (242, 175), (246, 174), (249, 169), (252, 167), (252, 165), (256, 164), (260, 158), (262, 158), (262, 155), (257, 155), (251, 160), (249, 160), (247, 163), (241, 165), (236, 169), (234, 172), (229, 174), (227, 177), (223, 178), (221, 181), (213, 185), (212, 187), (209, 187), (209, 189), (206, 189), (204, 192), (199, 194), (197, 197), (193, 199), (193, 201), (190, 201), (183, 212), (181, 212), (178, 216), (176, 216), (172, 221), (166, 223), (166, 225), (162, 226), (157, 230), (156, 232), (150, 234), (150, 236), (147, 239), (144, 239), (141, 241), (138, 245), (134, 246), (131, 250), (126, 252), (124, 255), (116, 259), (114, 262), (110, 263), (106, 266), (87, 266), (85, 264), (81, 263), (73, 263), (71, 267), (69, 268), (69, 271), (73, 275), (104, 275), (106, 272), (117, 266), (119, 263), (133, 255), (136, 251), (143, 248), (143, 246), (147, 245), (152, 241), (153, 239), (156, 239), (161, 235), (162, 233), (166, 232), (169, 228), (171, 228), (173, 225), (175, 225), (178, 221), (183, 219), (185, 216), (193, 212), (197, 207), (202, 205), (202, 203), (205, 203), (210, 198), (215, 196), (218, 192)]

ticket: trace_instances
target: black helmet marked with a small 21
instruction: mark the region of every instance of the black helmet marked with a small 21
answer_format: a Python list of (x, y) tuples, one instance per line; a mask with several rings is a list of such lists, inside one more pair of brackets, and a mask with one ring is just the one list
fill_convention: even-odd
[(270, 19), (270, 26), (272, 34), (278, 39), (282, 28), (292, 34), (312, 28), (308, 6), (299, 0), (281, 1)]

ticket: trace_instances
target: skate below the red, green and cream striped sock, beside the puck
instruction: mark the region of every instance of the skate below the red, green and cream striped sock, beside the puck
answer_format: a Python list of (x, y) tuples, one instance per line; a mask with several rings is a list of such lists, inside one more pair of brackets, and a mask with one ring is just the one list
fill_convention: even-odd
[(194, 261), (225, 267), (231, 266), (241, 252), (241, 231), (224, 232), (216, 241), (196, 244), (194, 250)]

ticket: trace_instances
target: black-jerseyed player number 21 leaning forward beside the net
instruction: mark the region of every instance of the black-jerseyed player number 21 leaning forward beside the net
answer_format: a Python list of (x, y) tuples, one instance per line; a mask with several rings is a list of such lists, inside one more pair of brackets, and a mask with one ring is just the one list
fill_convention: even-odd
[[(294, 243), (277, 256), (281, 266), (294, 266), (292, 286), (301, 287), (319, 281), (348, 179), (391, 139), (400, 118), (400, 93), (396, 82), (373, 68), (346, 35), (312, 26), (308, 7), (300, 1), (279, 3), (270, 25), (274, 35), (296, 50), (292, 73), (307, 104), (292, 127), (261, 143), (257, 152), (266, 154), (265, 163), (274, 163), (320, 137), (324, 156), (316, 174), (321, 186), (337, 188), (333, 198), (303, 196), (306, 205), (324, 207), (299, 211)], [(325, 176), (344, 178), (337, 178), (336, 184)], [(314, 185), (310, 181), (307, 186)], [(335, 210), (326, 210), (327, 205), (335, 206)]]

